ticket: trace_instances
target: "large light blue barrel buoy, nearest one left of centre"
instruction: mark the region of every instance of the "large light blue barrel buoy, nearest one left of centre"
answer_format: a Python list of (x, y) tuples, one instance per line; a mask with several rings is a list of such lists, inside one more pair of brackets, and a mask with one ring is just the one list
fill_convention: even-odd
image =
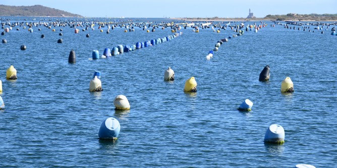
[(110, 117), (105, 119), (100, 125), (98, 137), (99, 139), (116, 140), (118, 135), (120, 134), (120, 130), (120, 122), (117, 119)]

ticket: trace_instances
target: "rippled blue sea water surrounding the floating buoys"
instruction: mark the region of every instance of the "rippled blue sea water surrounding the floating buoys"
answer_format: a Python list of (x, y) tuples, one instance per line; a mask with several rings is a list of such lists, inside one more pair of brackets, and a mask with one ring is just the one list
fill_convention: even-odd
[[(260, 24), (245, 25), (254, 23)], [(245, 31), (223, 43), (210, 60), (206, 55), (216, 42), (237, 33), (183, 28), (170, 41), (91, 60), (95, 49), (101, 55), (104, 48), (174, 33), (161, 27), (125, 33), (117, 27), (106, 34), (107, 27), (100, 32), (97, 24), (95, 30), (77, 27), (78, 34), (69, 26), (32, 27), (33, 33), (14, 27), (1, 36), (8, 43), (0, 44), (0, 96), (6, 106), (0, 110), (0, 166), (335, 167), (337, 36), (326, 26), (321, 34), (308, 32), (314, 26), (298, 31), (265, 23), (257, 33)], [(74, 64), (68, 63), (72, 49)], [(17, 80), (6, 80), (10, 65)], [(270, 80), (260, 82), (265, 65)], [(175, 71), (172, 82), (163, 80), (169, 66)], [(91, 93), (95, 70), (103, 91)], [(198, 91), (184, 93), (191, 76)], [(287, 76), (294, 82), (292, 94), (280, 93)], [(129, 111), (114, 110), (121, 94)], [(245, 99), (254, 103), (250, 112), (237, 110)], [(108, 117), (121, 124), (116, 142), (98, 139)], [(283, 145), (264, 144), (271, 124), (284, 127)]]

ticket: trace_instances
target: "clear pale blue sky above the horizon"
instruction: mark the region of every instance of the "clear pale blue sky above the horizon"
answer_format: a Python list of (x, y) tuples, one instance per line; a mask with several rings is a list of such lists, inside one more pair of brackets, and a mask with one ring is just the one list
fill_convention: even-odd
[(1, 5), (42, 5), (85, 17), (235, 18), (296, 14), (337, 14), (337, 0), (1, 0)]

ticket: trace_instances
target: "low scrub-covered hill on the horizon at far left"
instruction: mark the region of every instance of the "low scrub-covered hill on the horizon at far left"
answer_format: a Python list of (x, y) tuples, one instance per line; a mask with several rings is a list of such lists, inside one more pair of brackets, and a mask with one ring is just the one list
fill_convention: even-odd
[(33, 16), (33, 17), (82, 17), (77, 14), (44, 7), (41, 5), (34, 6), (6, 6), (0, 5), (0, 16)]

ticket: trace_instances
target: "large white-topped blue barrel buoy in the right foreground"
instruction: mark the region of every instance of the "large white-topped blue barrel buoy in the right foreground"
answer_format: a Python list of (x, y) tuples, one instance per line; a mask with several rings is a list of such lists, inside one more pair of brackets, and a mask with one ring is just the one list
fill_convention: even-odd
[(264, 135), (264, 142), (283, 144), (285, 142), (283, 127), (277, 124), (270, 125)]

